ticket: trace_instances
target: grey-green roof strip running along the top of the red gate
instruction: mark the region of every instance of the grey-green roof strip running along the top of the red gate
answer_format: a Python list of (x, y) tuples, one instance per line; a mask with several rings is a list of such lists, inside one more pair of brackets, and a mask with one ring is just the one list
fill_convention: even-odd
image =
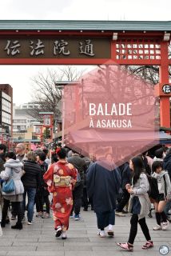
[(0, 20), (0, 30), (171, 31), (171, 21)]

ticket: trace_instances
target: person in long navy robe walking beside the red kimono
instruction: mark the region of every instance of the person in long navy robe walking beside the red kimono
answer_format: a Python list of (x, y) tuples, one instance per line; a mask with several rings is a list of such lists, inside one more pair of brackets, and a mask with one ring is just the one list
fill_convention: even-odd
[(98, 235), (105, 237), (105, 227), (108, 235), (113, 236), (117, 194), (121, 189), (121, 177), (112, 162), (97, 161), (89, 166), (87, 171), (87, 192), (93, 198), (93, 209), (97, 215)]

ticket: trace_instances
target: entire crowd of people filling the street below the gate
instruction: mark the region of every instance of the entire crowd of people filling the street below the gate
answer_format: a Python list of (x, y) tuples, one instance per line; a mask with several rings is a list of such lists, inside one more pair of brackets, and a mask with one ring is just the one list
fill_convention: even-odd
[[(147, 215), (153, 217), (152, 210), (157, 222), (153, 230), (169, 228), (171, 148), (165, 152), (161, 147), (153, 156), (145, 152), (116, 166), (113, 154), (101, 158), (100, 150), (95, 161), (78, 150), (66, 148), (58, 148), (50, 159), (48, 150), (26, 153), (24, 145), (19, 143), (15, 153), (6, 153), (6, 146), (0, 144), (0, 178), (2, 228), (10, 223), (10, 206), (11, 219), (17, 218), (11, 228), (18, 230), (22, 230), (26, 218), (28, 225), (33, 224), (34, 206), (37, 218), (50, 218), (51, 207), (55, 236), (66, 239), (70, 218), (79, 221), (81, 207), (87, 211), (89, 204), (97, 216), (97, 235), (101, 238), (106, 236), (105, 228), (108, 236), (114, 236), (115, 215), (131, 214), (128, 241), (117, 242), (124, 250), (133, 250), (138, 223), (146, 240), (142, 249), (153, 247), (145, 221)], [(14, 190), (4, 192), (4, 184), (11, 179)]]

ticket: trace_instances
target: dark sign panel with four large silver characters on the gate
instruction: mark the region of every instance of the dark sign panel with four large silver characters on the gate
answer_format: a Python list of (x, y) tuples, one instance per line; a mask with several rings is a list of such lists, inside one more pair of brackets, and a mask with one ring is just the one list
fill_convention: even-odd
[(2, 38), (0, 58), (110, 58), (109, 38)]

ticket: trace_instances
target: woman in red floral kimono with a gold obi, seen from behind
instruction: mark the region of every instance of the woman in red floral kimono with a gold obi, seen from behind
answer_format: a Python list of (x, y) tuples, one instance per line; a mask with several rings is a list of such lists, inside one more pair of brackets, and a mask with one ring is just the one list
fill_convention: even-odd
[(72, 190), (77, 180), (78, 171), (66, 161), (66, 150), (58, 150), (58, 162), (54, 162), (46, 171), (43, 178), (53, 193), (53, 216), (56, 237), (62, 234), (66, 239), (66, 230), (69, 228), (70, 212), (73, 207)]

